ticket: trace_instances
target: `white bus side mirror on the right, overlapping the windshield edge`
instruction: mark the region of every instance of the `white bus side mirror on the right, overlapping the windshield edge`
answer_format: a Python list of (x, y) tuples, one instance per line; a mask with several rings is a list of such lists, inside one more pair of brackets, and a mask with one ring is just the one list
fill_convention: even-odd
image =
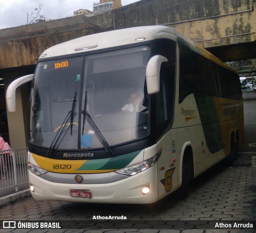
[(160, 68), (162, 62), (168, 62), (168, 59), (161, 55), (155, 55), (148, 61), (146, 82), (149, 95), (156, 94), (160, 91)]

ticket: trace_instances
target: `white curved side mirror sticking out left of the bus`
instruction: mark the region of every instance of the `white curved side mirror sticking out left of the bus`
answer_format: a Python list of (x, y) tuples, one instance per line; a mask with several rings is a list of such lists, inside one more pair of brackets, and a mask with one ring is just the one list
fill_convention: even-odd
[(9, 112), (16, 111), (16, 89), (27, 82), (32, 81), (34, 74), (17, 78), (8, 86), (6, 91), (6, 104)]

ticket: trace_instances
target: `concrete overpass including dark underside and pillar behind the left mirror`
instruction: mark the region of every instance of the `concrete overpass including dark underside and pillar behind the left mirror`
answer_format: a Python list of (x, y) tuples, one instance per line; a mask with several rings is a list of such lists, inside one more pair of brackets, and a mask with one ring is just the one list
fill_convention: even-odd
[[(2, 29), (0, 78), (7, 87), (15, 78), (33, 73), (39, 55), (54, 44), (106, 30), (161, 24), (230, 62), (241, 76), (256, 75), (255, 7), (255, 0), (141, 0), (91, 18), (75, 16)], [(20, 109), (8, 113), (14, 148), (26, 145), (28, 94), (26, 85), (17, 94)]]

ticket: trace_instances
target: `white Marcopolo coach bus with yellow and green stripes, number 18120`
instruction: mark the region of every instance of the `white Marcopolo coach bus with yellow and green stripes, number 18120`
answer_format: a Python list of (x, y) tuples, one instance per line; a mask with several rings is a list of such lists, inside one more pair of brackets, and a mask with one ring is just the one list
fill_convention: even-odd
[(38, 200), (154, 203), (244, 135), (238, 74), (167, 26), (84, 36), (42, 53), (32, 81), (28, 167)]

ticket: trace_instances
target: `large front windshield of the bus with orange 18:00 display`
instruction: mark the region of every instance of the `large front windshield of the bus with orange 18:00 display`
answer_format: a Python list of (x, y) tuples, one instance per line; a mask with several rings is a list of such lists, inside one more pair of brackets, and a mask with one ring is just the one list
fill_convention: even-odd
[(30, 143), (94, 149), (105, 147), (101, 136), (109, 146), (146, 137), (149, 58), (150, 48), (140, 46), (39, 62), (31, 92)]

